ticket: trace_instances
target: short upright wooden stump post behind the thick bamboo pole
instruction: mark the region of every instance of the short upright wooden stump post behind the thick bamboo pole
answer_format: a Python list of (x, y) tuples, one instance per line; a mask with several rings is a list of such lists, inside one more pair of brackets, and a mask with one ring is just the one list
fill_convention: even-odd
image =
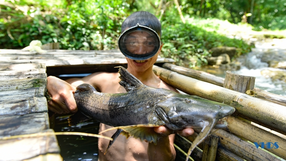
[(239, 75), (227, 71), (225, 75), (224, 88), (245, 93), (247, 90), (253, 90), (255, 84), (255, 77)]

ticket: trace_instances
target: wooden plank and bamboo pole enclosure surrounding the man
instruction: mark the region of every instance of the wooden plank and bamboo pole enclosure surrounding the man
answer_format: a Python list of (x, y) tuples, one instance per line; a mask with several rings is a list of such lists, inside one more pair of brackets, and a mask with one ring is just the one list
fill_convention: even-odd
[[(233, 91), (235, 89), (229, 86), (231, 83), (224, 83), (223, 78), (166, 62), (174, 60), (158, 58), (155, 65), (160, 67), (153, 67), (153, 71), (164, 82), (190, 95), (225, 104), (232, 104), (233, 101), (238, 103), (235, 105), (235, 114), (226, 118), (228, 128), (214, 131), (198, 145), (189, 160), (279, 160), (268, 152), (257, 149), (253, 142), (278, 142), (279, 148), (266, 150), (286, 159), (286, 140), (283, 138), (286, 134), (285, 97), (253, 88), (254, 81), (251, 78), (238, 78), (239, 82), (246, 82), (246, 87), (237, 89), (251, 90), (249, 92), (253, 95), (256, 92), (255, 98)], [(37, 53), (0, 49), (0, 161), (62, 160), (55, 135), (6, 140), (1, 138), (53, 132), (49, 127), (45, 98), (47, 76), (117, 72), (118, 69), (114, 67), (119, 65), (127, 67), (127, 61), (117, 50), (47, 50), (45, 53)], [(281, 134), (277, 136), (273, 134), (275, 132), (250, 124), (250, 121)], [(186, 152), (197, 134), (187, 138), (176, 136), (176, 160), (185, 160)]]

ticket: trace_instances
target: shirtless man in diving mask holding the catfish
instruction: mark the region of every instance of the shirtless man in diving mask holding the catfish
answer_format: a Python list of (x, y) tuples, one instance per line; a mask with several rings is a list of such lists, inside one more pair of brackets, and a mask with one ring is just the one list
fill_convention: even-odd
[[(124, 34), (127, 34), (127, 36)], [(178, 92), (175, 88), (163, 82), (152, 71), (152, 66), (162, 49), (160, 35), (161, 24), (154, 15), (145, 11), (135, 12), (122, 23), (122, 35), (120, 36), (122, 41), (119, 40), (120, 50), (126, 56), (127, 70), (143, 84)], [(90, 84), (96, 90), (104, 93), (126, 92), (118, 83), (120, 82), (119, 73), (96, 72), (81, 79), (68, 79), (66, 82), (53, 76), (49, 76), (47, 80), (47, 89), (52, 97), (49, 102), (49, 110), (56, 113), (77, 111), (73, 92), (80, 84)], [(100, 131), (108, 128), (110, 126), (100, 124)], [(115, 131), (108, 131), (103, 135), (111, 137)], [(174, 133), (181, 136), (190, 136), (194, 132), (191, 128), (172, 131), (165, 126), (156, 127), (154, 131), (158, 133), (156, 146), (153, 143), (141, 142), (133, 137), (126, 140), (125, 136), (119, 135), (105, 155), (104, 152), (109, 141), (99, 138), (99, 160), (174, 160), (176, 157)]]

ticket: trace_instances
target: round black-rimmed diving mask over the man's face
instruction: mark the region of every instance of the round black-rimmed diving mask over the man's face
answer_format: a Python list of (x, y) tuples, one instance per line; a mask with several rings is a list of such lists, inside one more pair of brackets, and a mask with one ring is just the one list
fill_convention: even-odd
[(160, 38), (154, 30), (138, 25), (127, 29), (120, 35), (118, 47), (130, 59), (145, 60), (158, 52)]

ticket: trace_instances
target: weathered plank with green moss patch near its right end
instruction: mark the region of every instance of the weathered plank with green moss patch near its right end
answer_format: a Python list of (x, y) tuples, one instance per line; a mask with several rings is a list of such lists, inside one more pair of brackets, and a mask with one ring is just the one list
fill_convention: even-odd
[(47, 86), (47, 77), (0, 80), (0, 91), (21, 90), (33, 87), (46, 87), (46, 86)]

